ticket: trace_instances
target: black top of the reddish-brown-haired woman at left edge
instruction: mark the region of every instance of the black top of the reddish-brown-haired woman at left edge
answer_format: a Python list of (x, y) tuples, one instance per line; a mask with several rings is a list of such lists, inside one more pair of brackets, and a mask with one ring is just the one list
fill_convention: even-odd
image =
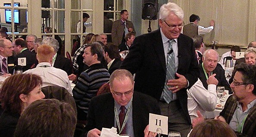
[(0, 117), (0, 137), (13, 137), (20, 115), (6, 110)]

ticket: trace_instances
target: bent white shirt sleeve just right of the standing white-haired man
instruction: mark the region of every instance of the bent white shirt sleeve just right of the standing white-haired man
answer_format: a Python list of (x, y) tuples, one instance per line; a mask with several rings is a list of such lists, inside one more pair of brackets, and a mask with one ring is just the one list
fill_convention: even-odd
[(187, 92), (197, 102), (201, 109), (213, 111), (217, 104), (216, 85), (209, 84), (208, 90), (203, 87), (202, 81), (198, 81)]

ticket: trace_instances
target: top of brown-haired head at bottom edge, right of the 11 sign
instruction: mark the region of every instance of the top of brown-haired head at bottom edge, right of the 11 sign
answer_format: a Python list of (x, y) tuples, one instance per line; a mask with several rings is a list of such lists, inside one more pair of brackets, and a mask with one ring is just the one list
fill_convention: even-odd
[(219, 120), (208, 119), (196, 125), (190, 137), (237, 137), (230, 126)]

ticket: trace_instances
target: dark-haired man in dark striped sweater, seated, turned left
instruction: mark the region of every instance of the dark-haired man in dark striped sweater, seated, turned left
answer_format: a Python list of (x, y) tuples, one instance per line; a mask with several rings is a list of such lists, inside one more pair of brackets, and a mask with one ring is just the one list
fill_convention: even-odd
[(109, 72), (100, 63), (103, 49), (97, 42), (87, 44), (84, 50), (84, 63), (89, 66), (81, 73), (75, 85), (73, 97), (77, 106), (78, 120), (85, 121), (91, 98), (96, 96), (98, 89), (109, 81)]

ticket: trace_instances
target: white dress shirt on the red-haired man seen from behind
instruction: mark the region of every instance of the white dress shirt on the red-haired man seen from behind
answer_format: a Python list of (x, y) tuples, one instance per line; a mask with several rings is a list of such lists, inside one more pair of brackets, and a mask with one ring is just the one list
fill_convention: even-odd
[(43, 80), (42, 87), (57, 85), (64, 87), (73, 96), (68, 75), (65, 71), (51, 66), (49, 62), (41, 62), (34, 69), (28, 69), (23, 73), (39, 75)]

